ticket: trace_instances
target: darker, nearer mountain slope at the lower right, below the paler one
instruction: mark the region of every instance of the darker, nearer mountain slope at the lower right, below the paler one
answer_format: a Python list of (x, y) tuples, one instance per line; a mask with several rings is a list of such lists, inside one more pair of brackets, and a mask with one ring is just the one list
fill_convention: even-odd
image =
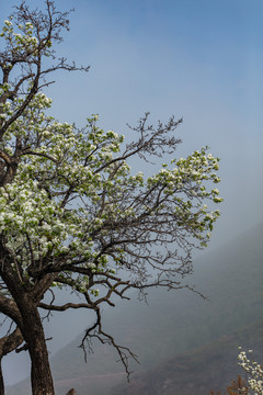
[(169, 359), (152, 370), (135, 374), (130, 384), (123, 383), (111, 394), (208, 395), (210, 390), (224, 391), (238, 374), (243, 373), (237, 365), (240, 345), (254, 349), (255, 359), (262, 361), (263, 319)]

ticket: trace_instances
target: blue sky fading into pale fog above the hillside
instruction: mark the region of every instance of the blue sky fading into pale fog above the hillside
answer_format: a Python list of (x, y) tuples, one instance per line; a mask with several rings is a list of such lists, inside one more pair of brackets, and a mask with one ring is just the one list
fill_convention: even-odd
[[(2, 20), (15, 3), (1, 1)], [(225, 202), (208, 250), (260, 223), (262, 1), (57, 0), (56, 4), (76, 9), (58, 54), (91, 69), (54, 76), (57, 83), (46, 90), (54, 100), (53, 115), (83, 125), (90, 114), (100, 114), (103, 127), (127, 138), (133, 136), (126, 123), (135, 125), (145, 112), (150, 111), (153, 124), (171, 115), (183, 117), (178, 129), (183, 143), (176, 155), (209, 146), (221, 159), (218, 189)], [(68, 329), (60, 346), (77, 335), (71, 324), (64, 325)], [(9, 382), (14, 377), (16, 373), (10, 373)]]

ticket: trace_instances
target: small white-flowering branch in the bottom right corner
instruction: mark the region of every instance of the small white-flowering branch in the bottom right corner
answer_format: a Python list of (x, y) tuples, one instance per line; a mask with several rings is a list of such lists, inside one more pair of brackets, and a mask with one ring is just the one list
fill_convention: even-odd
[[(245, 353), (239, 348), (240, 352), (238, 356), (239, 365), (248, 374), (248, 384), (251, 391), (254, 392), (255, 395), (263, 394), (263, 368), (258, 362), (250, 360)], [(249, 353), (252, 354), (252, 350), (249, 350)]]

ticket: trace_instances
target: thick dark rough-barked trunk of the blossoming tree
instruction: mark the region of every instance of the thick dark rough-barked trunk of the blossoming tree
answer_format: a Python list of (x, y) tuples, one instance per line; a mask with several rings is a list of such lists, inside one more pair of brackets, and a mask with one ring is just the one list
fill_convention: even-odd
[[(38, 281), (38, 289), (26, 290), (16, 271), (11, 269), (12, 257), (0, 239), (0, 274), (13, 301), (4, 301), (4, 314), (19, 326), (31, 358), (31, 385), (33, 395), (55, 395), (48, 351), (37, 302), (49, 287), (53, 278)], [(38, 291), (38, 293), (36, 292)]]

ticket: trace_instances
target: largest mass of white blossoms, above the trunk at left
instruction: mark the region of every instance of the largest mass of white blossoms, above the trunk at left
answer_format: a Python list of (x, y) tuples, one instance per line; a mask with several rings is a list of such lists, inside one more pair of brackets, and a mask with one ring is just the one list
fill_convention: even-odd
[[(12, 183), (0, 189), (0, 233), (7, 235), (7, 246), (24, 270), (32, 261), (41, 266), (48, 253), (68, 256), (68, 262), (75, 257), (82, 258), (85, 267), (92, 267), (98, 251), (93, 250), (89, 233), (114, 216), (116, 205), (111, 196), (113, 200), (116, 189), (122, 189), (121, 181), (115, 185), (116, 180), (125, 178), (129, 167), (125, 162), (118, 166), (111, 180), (111, 167), (101, 173), (98, 169), (112, 160), (124, 137), (96, 127), (98, 116), (88, 120), (87, 131), (56, 122), (44, 113), (49, 105), (44, 93), (35, 95), (1, 143), (1, 148), (12, 155), (19, 136), (31, 144), (32, 150), (21, 157)], [(103, 190), (110, 198), (103, 213), (96, 215), (89, 208), (89, 202), (100, 205)], [(66, 200), (69, 191), (70, 204)], [(83, 204), (73, 207), (75, 200)], [(105, 267), (103, 257), (96, 261)]]

